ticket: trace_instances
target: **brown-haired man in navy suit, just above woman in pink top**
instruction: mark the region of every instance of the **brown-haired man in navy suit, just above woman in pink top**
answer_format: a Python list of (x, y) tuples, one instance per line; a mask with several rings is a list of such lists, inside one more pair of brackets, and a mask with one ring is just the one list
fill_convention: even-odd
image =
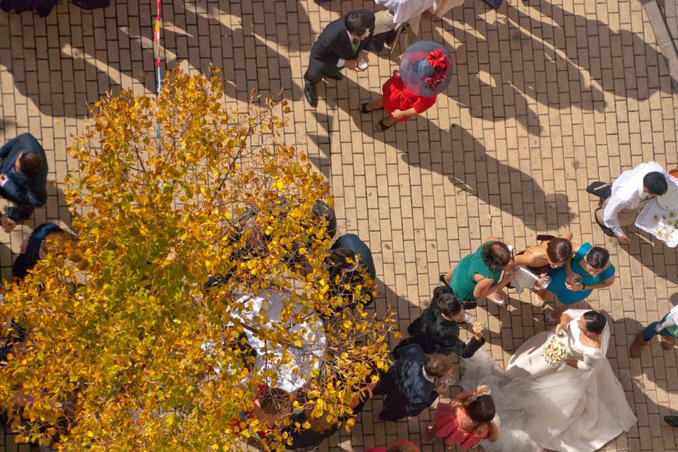
[(393, 355), (396, 361), (372, 392), (386, 396), (379, 419), (396, 422), (419, 415), (448, 391), (444, 379), (452, 373), (452, 359), (441, 353), (426, 355), (419, 344), (400, 347)]

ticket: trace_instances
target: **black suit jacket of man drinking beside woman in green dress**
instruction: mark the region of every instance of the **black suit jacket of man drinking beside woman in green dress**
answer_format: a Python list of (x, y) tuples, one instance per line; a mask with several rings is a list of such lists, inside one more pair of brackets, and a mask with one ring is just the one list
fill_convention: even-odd
[[(408, 327), (412, 336), (410, 343), (420, 344), (425, 353), (454, 352), (460, 357), (470, 358), (485, 343), (484, 338), (471, 338), (468, 344), (459, 339), (459, 323), (443, 319), (438, 307), (438, 299), (444, 293), (451, 293), (449, 287), (438, 286), (433, 291), (431, 305), (424, 309), (422, 316), (415, 319)], [(405, 341), (403, 341), (404, 343)]]

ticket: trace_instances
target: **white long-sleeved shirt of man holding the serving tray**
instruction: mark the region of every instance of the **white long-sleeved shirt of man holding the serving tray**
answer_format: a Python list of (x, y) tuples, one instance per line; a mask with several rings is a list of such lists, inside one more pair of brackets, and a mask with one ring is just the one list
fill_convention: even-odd
[(619, 226), (617, 215), (622, 210), (637, 208), (641, 201), (650, 196), (643, 191), (643, 177), (653, 171), (666, 174), (662, 165), (657, 162), (641, 163), (633, 169), (624, 171), (612, 184), (612, 196), (607, 201), (602, 217), (605, 226), (609, 227), (617, 237), (626, 235)]

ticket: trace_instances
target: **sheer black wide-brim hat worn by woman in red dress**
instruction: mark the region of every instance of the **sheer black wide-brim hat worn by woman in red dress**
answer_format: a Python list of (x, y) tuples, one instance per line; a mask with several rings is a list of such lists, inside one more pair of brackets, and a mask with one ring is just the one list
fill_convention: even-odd
[[(450, 64), (446, 69), (437, 69), (439, 73), (444, 71), (444, 74), (441, 74), (444, 78), (436, 85), (429, 86), (424, 78), (434, 76), (436, 73), (436, 68), (429, 61), (429, 54), (436, 50), (439, 50)], [(432, 97), (441, 93), (450, 84), (452, 78), (452, 54), (442, 44), (435, 41), (417, 41), (405, 50), (403, 57), (400, 57), (400, 78), (405, 86), (418, 95)]]

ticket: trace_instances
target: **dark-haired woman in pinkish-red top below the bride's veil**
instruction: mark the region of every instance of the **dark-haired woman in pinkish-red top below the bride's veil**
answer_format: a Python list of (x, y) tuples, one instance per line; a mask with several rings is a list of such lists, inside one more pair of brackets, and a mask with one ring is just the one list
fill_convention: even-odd
[[(494, 419), (494, 400), (483, 393), (488, 386), (478, 386), (475, 391), (458, 393), (452, 403), (439, 403), (429, 436), (443, 438), (448, 447), (458, 444), (462, 451), (475, 447), (483, 439), (496, 441), (499, 429)], [(471, 397), (477, 396), (475, 400)]]

